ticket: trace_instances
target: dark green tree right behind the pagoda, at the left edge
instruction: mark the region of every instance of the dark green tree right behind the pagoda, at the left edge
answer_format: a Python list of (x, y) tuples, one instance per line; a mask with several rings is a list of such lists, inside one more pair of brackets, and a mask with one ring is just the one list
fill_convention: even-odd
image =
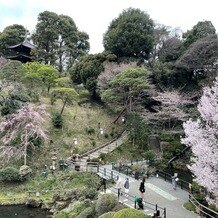
[(9, 55), (10, 51), (8, 46), (16, 45), (24, 41), (26, 35), (26, 29), (19, 24), (13, 24), (7, 26), (0, 33), (0, 56)]

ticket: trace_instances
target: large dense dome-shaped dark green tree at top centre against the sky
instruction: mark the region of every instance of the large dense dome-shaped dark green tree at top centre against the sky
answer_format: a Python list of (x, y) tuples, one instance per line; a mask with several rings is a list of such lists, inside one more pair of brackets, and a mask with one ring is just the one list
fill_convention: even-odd
[(114, 19), (104, 34), (106, 51), (117, 57), (148, 59), (154, 44), (154, 23), (139, 9), (124, 10)]

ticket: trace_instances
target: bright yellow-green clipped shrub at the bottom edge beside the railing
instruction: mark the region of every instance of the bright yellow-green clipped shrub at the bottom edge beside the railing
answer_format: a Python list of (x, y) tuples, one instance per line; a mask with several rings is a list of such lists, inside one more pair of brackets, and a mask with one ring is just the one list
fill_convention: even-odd
[(125, 208), (120, 211), (117, 211), (113, 218), (149, 218), (151, 216), (145, 215), (142, 211), (132, 209), (132, 208)]

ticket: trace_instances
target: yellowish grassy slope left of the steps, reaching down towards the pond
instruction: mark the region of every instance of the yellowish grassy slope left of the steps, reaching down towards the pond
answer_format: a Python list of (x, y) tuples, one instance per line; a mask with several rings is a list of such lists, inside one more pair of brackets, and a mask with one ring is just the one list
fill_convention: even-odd
[[(63, 113), (64, 126), (62, 129), (55, 129), (51, 123), (51, 114), (53, 111), (60, 111), (62, 107), (62, 102), (57, 101), (55, 105), (50, 105), (49, 98), (41, 98), (40, 103), (47, 105), (48, 115), (45, 119), (45, 127), (48, 129), (49, 138), (53, 140), (53, 144), (44, 145), (40, 148), (36, 148), (33, 151), (34, 155), (28, 157), (27, 164), (33, 169), (33, 177), (25, 183), (15, 183), (15, 184), (0, 184), (0, 203), (8, 203), (11, 200), (1, 200), (1, 198), (8, 197), (27, 197), (26, 191), (37, 190), (42, 191), (43, 189), (64, 189), (76, 187), (75, 184), (78, 183), (72, 179), (65, 176), (65, 180), (60, 178), (63, 176), (62, 172), (56, 173), (56, 178), (52, 178), (49, 175), (48, 178), (44, 179), (40, 177), (40, 172), (43, 166), (46, 164), (50, 166), (52, 164), (52, 154), (53, 147), (58, 150), (58, 160), (67, 159), (71, 156), (71, 150), (74, 153), (83, 153), (96, 146), (99, 146), (107, 141), (110, 141), (112, 137), (110, 136), (112, 128), (114, 132), (121, 132), (121, 126), (112, 125), (112, 121), (115, 119), (115, 115), (109, 115), (108, 112), (102, 107), (94, 103), (86, 103), (79, 106), (77, 103), (73, 105), (68, 105)], [(104, 129), (104, 135), (98, 134), (99, 124), (101, 128)], [(93, 128), (95, 132), (93, 134), (88, 134), (86, 129)], [(108, 137), (105, 137), (105, 134)], [(78, 139), (78, 144), (75, 147), (73, 145), (73, 138)], [(58, 161), (57, 161), (58, 162)], [(14, 166), (19, 168), (22, 165), (22, 161), (16, 163), (10, 162), (6, 166)], [(66, 173), (69, 174), (69, 173)], [(69, 180), (68, 180), (69, 179)], [(78, 185), (78, 184), (77, 184)], [(35, 197), (35, 195), (33, 195)], [(42, 199), (51, 199), (52, 194), (44, 194)], [(41, 198), (41, 197), (40, 197)], [(19, 202), (16, 200), (12, 202)]]

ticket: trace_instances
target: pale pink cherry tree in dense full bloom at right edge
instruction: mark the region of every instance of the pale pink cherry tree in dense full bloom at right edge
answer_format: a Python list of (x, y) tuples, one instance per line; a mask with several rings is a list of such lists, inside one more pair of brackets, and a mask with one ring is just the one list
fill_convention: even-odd
[(188, 166), (196, 182), (208, 191), (207, 201), (218, 204), (218, 77), (212, 87), (203, 89), (198, 104), (200, 118), (183, 124), (181, 142), (191, 146), (193, 157)]

